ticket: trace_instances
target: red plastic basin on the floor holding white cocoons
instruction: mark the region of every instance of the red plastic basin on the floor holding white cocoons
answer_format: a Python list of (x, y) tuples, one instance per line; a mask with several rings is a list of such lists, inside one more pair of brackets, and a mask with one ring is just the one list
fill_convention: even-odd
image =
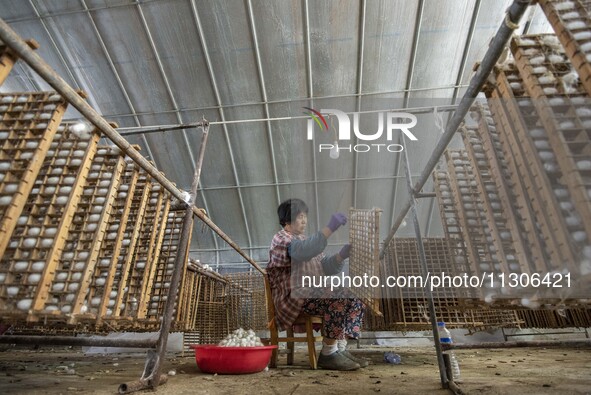
[(203, 373), (246, 374), (264, 370), (277, 346), (221, 347), (192, 344), (195, 361)]

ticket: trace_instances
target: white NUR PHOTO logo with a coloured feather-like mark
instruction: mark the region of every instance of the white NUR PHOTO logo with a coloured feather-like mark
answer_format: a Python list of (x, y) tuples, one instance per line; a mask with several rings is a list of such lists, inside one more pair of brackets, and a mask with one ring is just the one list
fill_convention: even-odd
[[(307, 138), (313, 139), (314, 124), (320, 130), (330, 131), (327, 122), (327, 117), (336, 117), (337, 127), (335, 129), (334, 141), (332, 144), (319, 144), (318, 152), (329, 151), (331, 158), (338, 158), (339, 151), (348, 152), (401, 152), (403, 146), (400, 144), (392, 144), (393, 135), (400, 131), (406, 135), (410, 140), (418, 140), (416, 136), (410, 131), (412, 127), (417, 124), (417, 117), (406, 112), (378, 112), (378, 130), (370, 134), (364, 133), (359, 128), (360, 113), (353, 113), (353, 134), (359, 141), (367, 141), (368, 143), (350, 144), (351, 141), (351, 119), (349, 115), (341, 110), (336, 109), (321, 109), (317, 111), (310, 107), (304, 107), (305, 114), (310, 116), (307, 124)], [(365, 114), (364, 116), (372, 116), (373, 114)], [(375, 115), (373, 115), (375, 116)], [(384, 121), (385, 120), (385, 121)], [(384, 123), (386, 124), (386, 142), (378, 143), (377, 140), (382, 138), (384, 134)], [(331, 122), (332, 125), (332, 122)], [(372, 141), (373, 143), (369, 143)], [(349, 143), (349, 144), (347, 144)]]

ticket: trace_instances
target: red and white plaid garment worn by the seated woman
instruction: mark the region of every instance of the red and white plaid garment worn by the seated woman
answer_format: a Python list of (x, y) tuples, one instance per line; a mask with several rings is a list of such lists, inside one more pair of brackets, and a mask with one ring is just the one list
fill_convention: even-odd
[[(302, 311), (305, 299), (297, 299), (292, 297), (292, 290), (296, 289), (299, 284), (291, 283), (292, 279), (292, 259), (289, 256), (289, 246), (292, 240), (306, 240), (304, 235), (293, 235), (285, 230), (281, 230), (275, 234), (271, 241), (271, 248), (269, 250), (269, 263), (267, 264), (267, 275), (269, 276), (269, 283), (271, 285), (271, 293), (273, 295), (273, 303), (275, 305), (275, 317), (279, 327), (285, 329), (293, 324)], [(319, 243), (324, 242), (324, 245), (315, 245), (313, 248), (324, 249), (326, 247), (326, 238), (316, 238)], [(303, 273), (311, 275), (323, 275), (322, 259), (324, 254), (313, 257), (306, 262), (294, 262), (297, 265), (297, 271), (300, 269)], [(294, 270), (296, 268), (294, 267)], [(299, 276), (296, 278), (299, 280)]]

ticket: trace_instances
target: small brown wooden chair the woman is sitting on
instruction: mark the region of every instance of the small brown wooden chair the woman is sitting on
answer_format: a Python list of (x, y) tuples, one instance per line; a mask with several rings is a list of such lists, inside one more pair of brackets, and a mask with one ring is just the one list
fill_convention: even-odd
[[(275, 322), (275, 305), (273, 304), (273, 296), (271, 295), (271, 285), (269, 279), (265, 275), (265, 294), (267, 298), (267, 314), (269, 317), (269, 332), (271, 333), (271, 345), (278, 346), (279, 343), (287, 343), (287, 364), (293, 365), (293, 355), (295, 351), (294, 343), (308, 343), (308, 358), (310, 360), (310, 367), (312, 369), (318, 368), (318, 361), (316, 359), (315, 342), (322, 341), (322, 336), (314, 336), (314, 324), (320, 324), (322, 327), (323, 318), (321, 316), (311, 316), (305, 313), (300, 314), (296, 318), (293, 325), (287, 328), (287, 337), (279, 337), (279, 330)], [(295, 336), (294, 327), (304, 326), (306, 328), (305, 336)], [(277, 367), (278, 349), (273, 350), (271, 355), (271, 368)]]

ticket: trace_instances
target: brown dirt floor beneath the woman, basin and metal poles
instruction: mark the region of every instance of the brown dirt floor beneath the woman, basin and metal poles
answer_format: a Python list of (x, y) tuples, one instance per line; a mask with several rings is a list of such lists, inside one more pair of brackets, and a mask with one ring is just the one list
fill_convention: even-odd
[[(66, 348), (0, 352), (0, 394), (115, 394), (119, 384), (139, 379), (145, 355), (84, 355)], [(355, 372), (310, 370), (305, 350), (296, 365), (266, 372), (223, 376), (199, 371), (194, 357), (169, 356), (165, 372), (174, 371), (157, 394), (446, 394), (441, 389), (432, 347), (352, 349), (371, 360)], [(402, 357), (383, 362), (385, 351)], [(591, 350), (515, 348), (457, 352), (468, 394), (591, 394)], [(145, 393), (154, 393), (147, 391)]]

